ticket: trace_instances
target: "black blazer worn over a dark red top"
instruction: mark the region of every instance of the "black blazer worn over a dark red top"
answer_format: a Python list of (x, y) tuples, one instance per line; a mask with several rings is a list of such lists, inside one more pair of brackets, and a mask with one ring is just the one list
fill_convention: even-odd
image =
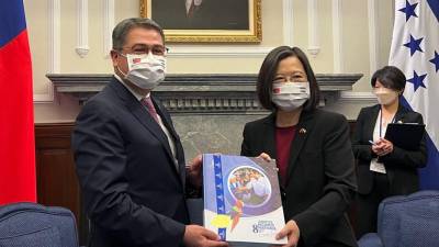
[[(263, 151), (275, 159), (274, 138), (274, 113), (247, 123), (241, 155)], [(291, 145), (286, 183), (281, 188), (285, 221), (297, 223), (300, 246), (357, 246), (346, 215), (357, 190), (350, 145), (345, 116), (322, 110), (302, 112)]]

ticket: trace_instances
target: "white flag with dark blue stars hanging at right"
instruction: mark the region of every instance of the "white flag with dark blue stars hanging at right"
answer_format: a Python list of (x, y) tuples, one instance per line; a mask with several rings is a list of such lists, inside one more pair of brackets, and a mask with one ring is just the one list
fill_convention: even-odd
[(404, 103), (424, 116), (428, 164), (421, 189), (439, 190), (439, 0), (395, 0), (390, 65), (407, 77)]

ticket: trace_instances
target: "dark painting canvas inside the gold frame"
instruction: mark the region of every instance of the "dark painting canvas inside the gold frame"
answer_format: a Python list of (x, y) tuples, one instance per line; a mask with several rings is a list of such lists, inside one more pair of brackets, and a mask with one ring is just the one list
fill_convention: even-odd
[(248, 30), (248, 0), (155, 0), (151, 18), (165, 30)]

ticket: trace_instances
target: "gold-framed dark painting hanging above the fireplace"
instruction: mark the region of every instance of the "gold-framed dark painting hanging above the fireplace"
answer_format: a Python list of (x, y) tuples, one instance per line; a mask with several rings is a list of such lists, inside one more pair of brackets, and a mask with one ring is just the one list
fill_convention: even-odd
[(261, 0), (140, 0), (140, 16), (156, 21), (166, 42), (262, 40)]

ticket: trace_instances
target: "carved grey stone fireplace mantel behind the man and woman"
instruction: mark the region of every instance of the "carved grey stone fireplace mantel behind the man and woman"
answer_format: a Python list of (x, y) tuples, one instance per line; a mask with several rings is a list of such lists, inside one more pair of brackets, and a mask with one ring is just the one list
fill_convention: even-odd
[[(110, 81), (110, 74), (49, 74), (58, 93), (86, 102)], [(320, 105), (335, 102), (341, 91), (352, 89), (362, 74), (317, 74)], [(256, 98), (257, 75), (168, 75), (154, 90), (172, 114), (258, 114), (266, 112)]]

